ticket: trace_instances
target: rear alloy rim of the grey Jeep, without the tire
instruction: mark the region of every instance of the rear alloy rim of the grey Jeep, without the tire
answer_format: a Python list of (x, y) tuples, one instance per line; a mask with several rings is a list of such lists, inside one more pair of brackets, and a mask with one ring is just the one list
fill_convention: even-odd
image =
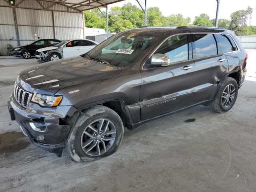
[(236, 89), (234, 85), (232, 84), (227, 85), (222, 93), (222, 100), (221, 100), (222, 106), (224, 108), (228, 108), (234, 101), (235, 96), (236, 96)]

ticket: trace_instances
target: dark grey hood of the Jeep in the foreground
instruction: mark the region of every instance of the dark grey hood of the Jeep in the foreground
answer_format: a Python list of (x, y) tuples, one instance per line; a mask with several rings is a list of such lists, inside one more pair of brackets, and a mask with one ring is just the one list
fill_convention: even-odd
[(17, 83), (28, 92), (55, 94), (68, 86), (104, 80), (121, 72), (120, 67), (109, 66), (81, 56), (47, 62), (23, 70)]

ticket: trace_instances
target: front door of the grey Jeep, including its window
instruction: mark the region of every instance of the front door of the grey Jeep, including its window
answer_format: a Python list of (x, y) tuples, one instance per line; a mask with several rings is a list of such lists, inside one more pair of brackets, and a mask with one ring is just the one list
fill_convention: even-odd
[(194, 60), (190, 34), (165, 40), (154, 54), (166, 54), (170, 66), (148, 68), (141, 72), (141, 120), (184, 108), (193, 103)]

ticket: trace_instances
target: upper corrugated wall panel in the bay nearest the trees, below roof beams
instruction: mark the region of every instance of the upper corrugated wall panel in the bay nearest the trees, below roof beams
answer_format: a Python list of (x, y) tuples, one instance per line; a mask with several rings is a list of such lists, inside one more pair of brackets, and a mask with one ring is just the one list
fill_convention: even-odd
[(80, 13), (67, 13), (54, 11), (55, 26), (83, 27), (83, 15)]

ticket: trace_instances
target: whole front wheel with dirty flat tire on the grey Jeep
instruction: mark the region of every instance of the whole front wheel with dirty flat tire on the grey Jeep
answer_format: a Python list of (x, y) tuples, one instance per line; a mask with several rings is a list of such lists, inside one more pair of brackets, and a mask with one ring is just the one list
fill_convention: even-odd
[(119, 148), (123, 135), (122, 120), (114, 110), (93, 106), (78, 117), (66, 148), (77, 162), (103, 158)]

